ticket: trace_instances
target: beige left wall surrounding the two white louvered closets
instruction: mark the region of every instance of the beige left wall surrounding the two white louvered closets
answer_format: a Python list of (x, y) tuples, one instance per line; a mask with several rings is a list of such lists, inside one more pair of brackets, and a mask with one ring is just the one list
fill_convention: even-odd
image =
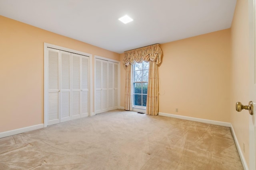
[(120, 58), (118, 53), (3, 16), (0, 25), (0, 132), (44, 122), (44, 42), (90, 53), (92, 58)]

